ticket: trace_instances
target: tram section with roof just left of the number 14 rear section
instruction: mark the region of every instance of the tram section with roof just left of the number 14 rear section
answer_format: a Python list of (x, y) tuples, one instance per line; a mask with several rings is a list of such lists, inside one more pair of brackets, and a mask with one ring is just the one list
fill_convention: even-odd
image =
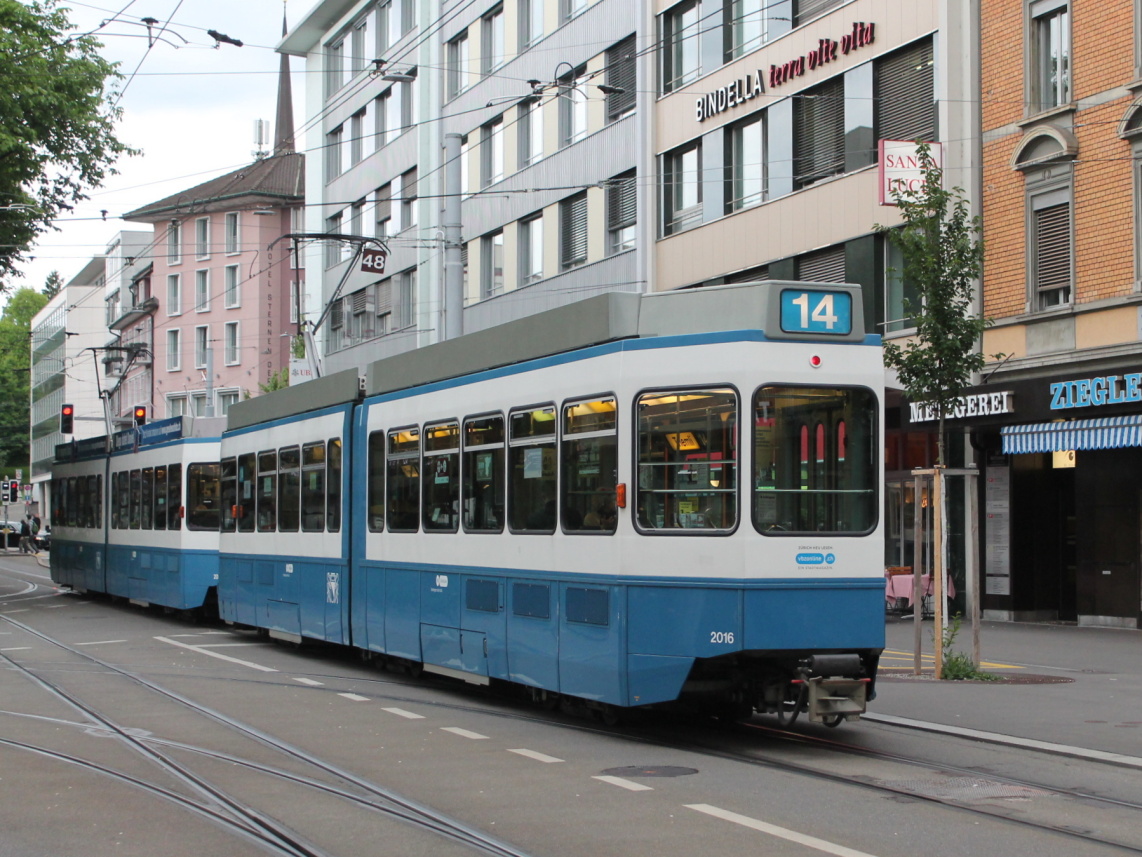
[(343, 466), (349, 370), (231, 408), (222, 439), (219, 615), (279, 639), (351, 642)]

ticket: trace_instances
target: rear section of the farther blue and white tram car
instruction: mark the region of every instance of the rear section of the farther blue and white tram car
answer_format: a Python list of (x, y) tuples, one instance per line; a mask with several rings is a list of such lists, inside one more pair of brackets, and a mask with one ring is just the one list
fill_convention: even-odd
[(106, 592), (212, 612), (225, 421), (171, 417), (111, 436)]

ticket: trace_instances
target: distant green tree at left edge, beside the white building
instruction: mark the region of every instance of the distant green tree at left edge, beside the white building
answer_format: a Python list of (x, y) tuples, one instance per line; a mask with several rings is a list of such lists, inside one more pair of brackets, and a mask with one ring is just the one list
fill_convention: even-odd
[(0, 314), (0, 470), (31, 473), (29, 374), (32, 317), (48, 303), (35, 289), (17, 289)]

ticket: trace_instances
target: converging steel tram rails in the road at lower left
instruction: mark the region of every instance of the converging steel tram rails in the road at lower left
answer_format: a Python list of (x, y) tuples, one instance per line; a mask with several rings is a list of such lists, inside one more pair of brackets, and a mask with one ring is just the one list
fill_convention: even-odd
[[(227, 716), (220, 712), (217, 712), (206, 705), (194, 702), (180, 694), (177, 694), (168, 688), (134, 673), (129, 670), (110, 664), (89, 652), (81, 651), (74, 647), (67, 646), (66, 643), (55, 640), (48, 634), (45, 634), (10, 616), (0, 616), (5, 622), (11, 626), (18, 628), (23, 633), (30, 634), (43, 642), (50, 643), (70, 655), (81, 658), (88, 663), (99, 666), (103, 670), (115, 673), (122, 678), (126, 678), (136, 684), (150, 690), (153, 694), (158, 694), (171, 702), (175, 702), (185, 710), (193, 711), (194, 713), (204, 716), (220, 726), (226, 727), (230, 730), (241, 734), (242, 736), (254, 739), (258, 744), (271, 748), (274, 752), (281, 753), (292, 760), (303, 762), (306, 766), (324, 774), (325, 776), (332, 777), (336, 780), (340, 780), (345, 784), (353, 786), (359, 790), (360, 793), (353, 793), (347, 788), (341, 788), (337, 786), (331, 786), (328, 783), (322, 783), (319, 779), (312, 777), (301, 777), (281, 769), (275, 769), (271, 766), (259, 764), (251, 762), (250, 760), (244, 760), (239, 756), (233, 756), (228, 754), (219, 754), (215, 751), (209, 751), (202, 747), (194, 747), (188, 745), (179, 745), (177, 743), (168, 743), (171, 747), (180, 747), (191, 752), (195, 752), (202, 755), (212, 755), (216, 759), (225, 760), (232, 764), (241, 764), (243, 768), (249, 770), (255, 770), (262, 774), (288, 778), (297, 785), (307, 786), (309, 788), (320, 788), (322, 792), (333, 795), (336, 798), (343, 799), (353, 803), (359, 808), (364, 808), (371, 811), (380, 812), (387, 817), (394, 818), (396, 820), (415, 825), (421, 830), (429, 831), (437, 835), (444, 836), (458, 844), (465, 846), (472, 850), (492, 855), (493, 857), (529, 857), (524, 851), (516, 849), (515, 847), (502, 842), (498, 839), (489, 836), (488, 834), (478, 831), (469, 825), (464, 824), (457, 819), (445, 816), (437, 810), (427, 807), (423, 803), (413, 801), (405, 798), (392, 790), (384, 788), (375, 783), (371, 783), (363, 777), (359, 777), (352, 771), (345, 770), (344, 768), (332, 764), (325, 760), (308, 753), (300, 747), (293, 746), (287, 742), (280, 740), (272, 735), (257, 729), (252, 726), (243, 723), (234, 718)], [(56, 698), (64, 702), (66, 705), (73, 710), (81, 712), (85, 718), (87, 718), (93, 724), (97, 726), (105, 732), (113, 735), (115, 738), (124, 743), (127, 746), (131, 747), (136, 752), (145, 756), (152, 764), (163, 770), (170, 776), (174, 776), (177, 780), (184, 783), (187, 787), (193, 790), (200, 795), (200, 800), (191, 801), (195, 804), (194, 810), (200, 815), (211, 819), (218, 819), (218, 812), (231, 816), (231, 822), (225, 826), (227, 830), (235, 831), (242, 830), (248, 835), (252, 836), (264, 847), (273, 850), (276, 854), (292, 855), (295, 857), (329, 857), (328, 852), (317, 848), (316, 846), (304, 841), (296, 832), (289, 830), (284, 824), (271, 818), (270, 816), (256, 810), (251, 804), (241, 801), (226, 794), (222, 788), (217, 787), (215, 784), (201, 777), (190, 770), (187, 766), (184, 766), (175, 761), (169, 755), (156, 751), (152, 745), (159, 743), (154, 738), (140, 738), (131, 734), (131, 730), (124, 729), (99, 714), (91, 706), (85, 704), (81, 699), (64, 690), (58, 683), (51, 682), (50, 680), (37, 674), (30, 667), (19, 664), (8, 655), (0, 652), (0, 658), (8, 664), (8, 666), (21, 674), (25, 675), (29, 680), (37, 683), (45, 691), (51, 694)], [(87, 724), (85, 724), (87, 726)], [(16, 746), (10, 742), (2, 742), (7, 746)], [(26, 746), (23, 747), (29, 752), (39, 752), (41, 754), (50, 754), (64, 761), (71, 761), (72, 763), (83, 764), (91, 770), (98, 770), (100, 766), (94, 766), (93, 763), (83, 760), (79, 756), (72, 756), (67, 753), (58, 753), (55, 751), (47, 750), (45, 747)], [(135, 778), (123, 777), (122, 782), (135, 783)], [(140, 786), (142, 787), (142, 786)], [(153, 784), (147, 786), (147, 791), (152, 791), (161, 796), (169, 796), (174, 799), (177, 793), (170, 792), (170, 790), (162, 790)], [(167, 794), (169, 792), (169, 795)], [(186, 808), (192, 808), (191, 803), (187, 803), (186, 798), (180, 798), (177, 800), (180, 806)], [(216, 804), (216, 806), (215, 806)], [(216, 808), (217, 807), (217, 808)], [(220, 808), (220, 809), (218, 809)]]

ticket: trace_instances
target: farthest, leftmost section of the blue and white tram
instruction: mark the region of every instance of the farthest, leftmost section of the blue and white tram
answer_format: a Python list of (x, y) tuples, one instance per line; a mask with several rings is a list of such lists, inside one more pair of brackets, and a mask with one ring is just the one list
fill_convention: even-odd
[(51, 465), (51, 579), (77, 592), (106, 592), (107, 439), (56, 447)]

